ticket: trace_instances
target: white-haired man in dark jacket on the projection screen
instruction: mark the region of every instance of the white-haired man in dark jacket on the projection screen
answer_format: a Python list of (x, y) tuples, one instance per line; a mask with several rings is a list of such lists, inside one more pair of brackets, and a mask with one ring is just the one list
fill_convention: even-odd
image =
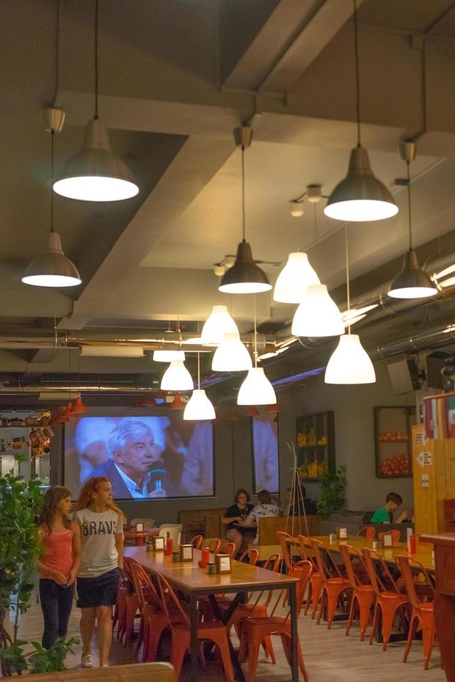
[(174, 495), (163, 462), (156, 459), (154, 435), (140, 420), (124, 419), (107, 439), (109, 459), (90, 474), (106, 476), (114, 499), (166, 498)]

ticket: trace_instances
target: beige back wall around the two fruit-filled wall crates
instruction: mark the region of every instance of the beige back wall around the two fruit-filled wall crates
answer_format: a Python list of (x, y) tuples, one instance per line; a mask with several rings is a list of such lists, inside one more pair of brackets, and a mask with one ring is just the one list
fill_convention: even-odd
[[(364, 386), (328, 386), (324, 374), (308, 386), (283, 390), (279, 394), (280, 480), (285, 491), (290, 485), (290, 457), (287, 441), (295, 441), (296, 416), (333, 410), (335, 413), (335, 457), (337, 466), (347, 467), (349, 509), (376, 509), (385, 495), (394, 491), (404, 500), (404, 509), (413, 506), (413, 479), (376, 478), (374, 461), (374, 406), (413, 405), (414, 393), (394, 395), (385, 362), (375, 365), (376, 383)], [(316, 499), (317, 483), (305, 484), (307, 494)]]

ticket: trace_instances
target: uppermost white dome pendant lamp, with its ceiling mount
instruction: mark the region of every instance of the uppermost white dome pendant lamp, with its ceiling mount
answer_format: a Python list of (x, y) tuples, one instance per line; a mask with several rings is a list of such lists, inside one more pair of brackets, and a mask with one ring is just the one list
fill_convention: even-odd
[[(311, 196), (309, 189), (311, 187)], [(308, 195), (314, 205), (314, 232), (317, 230), (316, 204), (321, 199), (321, 187), (309, 185), (305, 196)], [(316, 239), (315, 239), (316, 243)], [(279, 303), (300, 303), (303, 294), (312, 284), (320, 284), (316, 271), (311, 267), (308, 255), (302, 251), (293, 251), (287, 257), (287, 263), (278, 275), (273, 289), (273, 301)]]

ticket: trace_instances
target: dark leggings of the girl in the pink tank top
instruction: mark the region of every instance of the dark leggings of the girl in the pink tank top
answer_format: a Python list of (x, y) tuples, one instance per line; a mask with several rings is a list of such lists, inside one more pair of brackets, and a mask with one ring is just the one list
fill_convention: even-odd
[(74, 582), (70, 587), (57, 585), (54, 580), (40, 579), (40, 602), (45, 619), (42, 647), (49, 649), (57, 637), (66, 637), (74, 598)]

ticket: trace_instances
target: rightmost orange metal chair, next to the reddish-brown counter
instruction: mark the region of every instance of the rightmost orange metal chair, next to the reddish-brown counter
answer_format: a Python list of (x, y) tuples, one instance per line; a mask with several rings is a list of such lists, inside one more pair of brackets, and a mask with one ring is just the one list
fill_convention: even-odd
[[(434, 597), (433, 581), (424, 566), (414, 559), (399, 556), (397, 557), (397, 564), (399, 565), (401, 576), (404, 578), (404, 585), (410, 604), (413, 607), (409, 622), (408, 643), (406, 644), (403, 663), (406, 663), (406, 660), (408, 660), (415, 626), (417, 626), (417, 623), (420, 623), (420, 626), (422, 627), (422, 644), (424, 649), (424, 669), (428, 670), (435, 636), (434, 605), (433, 601), (422, 601), (420, 595), (417, 594), (412, 569), (418, 569), (419, 573), (422, 573), (426, 585), (428, 585), (429, 590)], [(426, 592), (426, 596), (428, 596), (428, 592)]]

